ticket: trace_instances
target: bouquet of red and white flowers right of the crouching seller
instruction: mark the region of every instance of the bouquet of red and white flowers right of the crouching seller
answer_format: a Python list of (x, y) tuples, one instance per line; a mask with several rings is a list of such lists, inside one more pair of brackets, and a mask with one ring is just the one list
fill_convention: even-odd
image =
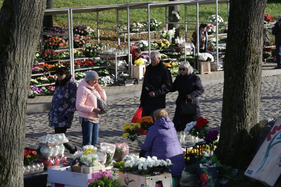
[(203, 117), (199, 117), (197, 121), (187, 123), (184, 132), (186, 135), (204, 138), (207, 136), (207, 127), (209, 126), (208, 123), (208, 120)]

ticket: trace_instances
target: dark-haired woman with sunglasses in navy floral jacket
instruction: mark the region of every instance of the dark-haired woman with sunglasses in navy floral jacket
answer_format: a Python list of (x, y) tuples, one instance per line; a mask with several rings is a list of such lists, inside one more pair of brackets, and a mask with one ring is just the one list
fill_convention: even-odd
[[(49, 126), (54, 127), (55, 134), (65, 134), (66, 130), (71, 127), (74, 112), (76, 111), (77, 85), (67, 67), (59, 67), (56, 74), (55, 93), (49, 112)], [(77, 151), (77, 148), (70, 142), (63, 145), (71, 154)]]

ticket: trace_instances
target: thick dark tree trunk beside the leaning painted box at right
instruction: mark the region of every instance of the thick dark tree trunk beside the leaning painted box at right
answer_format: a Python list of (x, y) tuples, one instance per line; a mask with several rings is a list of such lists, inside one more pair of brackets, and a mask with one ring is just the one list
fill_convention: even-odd
[(247, 167), (259, 131), (263, 17), (266, 0), (232, 0), (224, 66), (222, 122), (215, 154)]

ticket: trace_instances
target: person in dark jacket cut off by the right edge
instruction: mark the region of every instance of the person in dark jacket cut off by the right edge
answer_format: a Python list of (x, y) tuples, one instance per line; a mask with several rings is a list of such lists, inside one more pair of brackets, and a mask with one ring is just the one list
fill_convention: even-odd
[(275, 23), (272, 34), (275, 35), (275, 54), (277, 67), (274, 69), (281, 69), (281, 14), (277, 16), (278, 21)]

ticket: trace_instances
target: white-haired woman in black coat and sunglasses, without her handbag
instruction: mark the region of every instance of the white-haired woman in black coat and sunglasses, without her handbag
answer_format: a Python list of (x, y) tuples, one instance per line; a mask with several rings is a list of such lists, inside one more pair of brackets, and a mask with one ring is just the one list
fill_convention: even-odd
[[(204, 87), (200, 77), (195, 75), (193, 67), (190, 66), (188, 61), (183, 61), (179, 65), (178, 75), (173, 82), (173, 89), (171, 92), (175, 92), (177, 90), (178, 98), (176, 100), (173, 123), (177, 131), (183, 131), (187, 123), (196, 121), (201, 116), (199, 96), (204, 92)], [(196, 115), (181, 115), (181, 104), (185, 102), (186, 98), (187, 102), (191, 102), (191, 99), (193, 99), (193, 102), (196, 103)]]

